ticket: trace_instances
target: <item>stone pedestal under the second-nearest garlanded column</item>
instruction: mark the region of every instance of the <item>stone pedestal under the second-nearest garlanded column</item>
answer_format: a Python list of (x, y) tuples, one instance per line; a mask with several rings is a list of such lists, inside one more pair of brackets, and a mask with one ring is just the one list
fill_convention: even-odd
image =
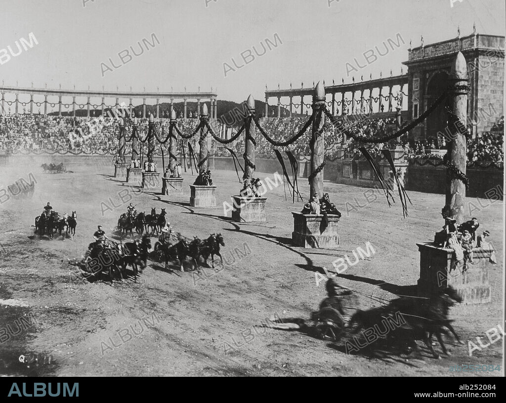
[(294, 246), (303, 248), (336, 248), (339, 246), (338, 222), (340, 217), (328, 215), (328, 226), (323, 227), (323, 215), (292, 212)]

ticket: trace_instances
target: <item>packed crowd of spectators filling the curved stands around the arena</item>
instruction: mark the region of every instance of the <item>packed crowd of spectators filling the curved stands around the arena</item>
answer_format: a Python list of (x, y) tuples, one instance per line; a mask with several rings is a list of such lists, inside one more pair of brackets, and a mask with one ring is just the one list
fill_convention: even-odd
[[(286, 141), (296, 136), (307, 122), (308, 116), (291, 118), (263, 119), (261, 126), (267, 135), (275, 141)], [(375, 118), (356, 120), (349, 117), (331, 124), (325, 119), (323, 127), (325, 138), (325, 153), (329, 159), (338, 155), (338, 150), (344, 150), (346, 154), (358, 153), (361, 146), (350, 134), (359, 137), (377, 138), (388, 136), (397, 130), (395, 118)], [(145, 139), (148, 133), (148, 119), (138, 119), (139, 137)], [(159, 139), (165, 139), (168, 135), (169, 119), (156, 119), (156, 131)], [(178, 119), (178, 129), (184, 136), (193, 133), (199, 124), (198, 118)], [(132, 134), (132, 119), (128, 118), (125, 126), (127, 138)], [(468, 139), (468, 163), (493, 163), (501, 164), (503, 159), (503, 136), (504, 118), (501, 117), (494, 125), (493, 131), (478, 134), (475, 138)], [(343, 133), (347, 133), (345, 140)], [(311, 139), (311, 127), (297, 141), (282, 147), (275, 147), (256, 131), (256, 152), (265, 157), (274, 157), (274, 149), (280, 151), (290, 150), (295, 155), (308, 156)], [(13, 152), (40, 152), (60, 151), (87, 154), (114, 154), (118, 146), (119, 119), (112, 117), (77, 118), (68, 116), (50, 116), (40, 114), (0, 115), (0, 150), (12, 150)], [(193, 147), (198, 141), (198, 135), (190, 141)], [(440, 144), (443, 143), (443, 144)], [(168, 145), (168, 144), (167, 144)], [(379, 154), (381, 149), (394, 146), (402, 146), (409, 157), (429, 156), (431, 150), (444, 148), (444, 141), (426, 139), (424, 141), (408, 141), (404, 135), (401, 142), (393, 139), (387, 143), (368, 144), (367, 149), (372, 154)], [(240, 136), (232, 145), (227, 145), (235, 150), (238, 155), (244, 152), (244, 136)], [(213, 142), (213, 148), (219, 152), (228, 154), (224, 147)], [(131, 152), (131, 143), (126, 144), (125, 153)], [(159, 147), (155, 148), (159, 153)]]

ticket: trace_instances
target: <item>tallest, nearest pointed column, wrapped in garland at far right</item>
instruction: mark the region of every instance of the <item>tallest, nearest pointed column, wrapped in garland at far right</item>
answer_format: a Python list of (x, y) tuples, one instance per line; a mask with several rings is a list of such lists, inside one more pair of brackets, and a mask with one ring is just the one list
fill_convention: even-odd
[[(450, 156), (450, 163), (459, 169), (463, 174), (466, 174), (466, 134), (467, 128), (467, 103), (468, 103), (468, 69), (466, 59), (461, 52), (458, 52), (451, 67), (451, 73), (448, 77), (449, 82), (449, 96), (451, 110), (458, 118), (462, 128), (458, 130), (456, 120), (452, 116), (449, 117), (448, 128), (452, 136), (451, 141), (448, 143), (448, 153)], [(457, 223), (461, 223), (464, 217), (464, 202), (466, 198), (466, 185), (450, 171), (447, 170), (446, 174), (446, 210), (450, 216), (453, 216)]]

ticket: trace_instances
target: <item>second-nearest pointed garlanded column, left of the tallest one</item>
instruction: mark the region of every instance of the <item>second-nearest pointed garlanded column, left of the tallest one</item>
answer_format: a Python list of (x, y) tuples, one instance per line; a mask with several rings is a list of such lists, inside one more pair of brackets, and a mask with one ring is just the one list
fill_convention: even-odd
[(310, 199), (317, 193), (318, 197), (323, 196), (323, 169), (313, 173), (323, 164), (325, 159), (324, 134), (318, 134), (325, 124), (325, 114), (320, 113), (321, 107), (325, 105), (325, 87), (318, 82), (313, 93), (313, 126), (311, 138), (311, 174), (310, 178)]

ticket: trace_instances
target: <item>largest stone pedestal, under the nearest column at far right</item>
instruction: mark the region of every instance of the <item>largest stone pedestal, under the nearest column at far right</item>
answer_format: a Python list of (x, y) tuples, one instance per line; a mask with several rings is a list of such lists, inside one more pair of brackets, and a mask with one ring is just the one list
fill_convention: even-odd
[[(462, 303), (490, 302), (488, 284), (489, 258), (492, 249), (476, 248), (473, 264), (457, 264), (452, 249), (439, 248), (432, 243), (416, 244), (420, 252), (420, 278), (418, 295), (428, 297), (452, 286), (462, 297)], [(464, 270), (462, 272), (462, 270)]]

